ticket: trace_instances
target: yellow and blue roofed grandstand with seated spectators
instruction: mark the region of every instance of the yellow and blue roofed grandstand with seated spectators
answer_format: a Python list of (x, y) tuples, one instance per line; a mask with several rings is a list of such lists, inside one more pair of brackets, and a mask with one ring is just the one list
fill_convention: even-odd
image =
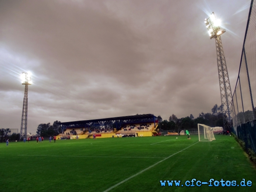
[(62, 122), (57, 139), (107, 137), (145, 137), (158, 135), (158, 119), (152, 114), (111, 117), (104, 119)]

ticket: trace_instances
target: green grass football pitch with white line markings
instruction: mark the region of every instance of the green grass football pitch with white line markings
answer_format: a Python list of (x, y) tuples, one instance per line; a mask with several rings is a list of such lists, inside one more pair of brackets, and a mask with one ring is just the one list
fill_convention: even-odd
[[(44, 140), (10, 142), (8, 147), (0, 143), (0, 191), (256, 191), (256, 169), (243, 149), (233, 137), (215, 138)], [(235, 186), (214, 186), (221, 179)], [(174, 181), (169, 186), (172, 180), (180, 180), (180, 186)]]

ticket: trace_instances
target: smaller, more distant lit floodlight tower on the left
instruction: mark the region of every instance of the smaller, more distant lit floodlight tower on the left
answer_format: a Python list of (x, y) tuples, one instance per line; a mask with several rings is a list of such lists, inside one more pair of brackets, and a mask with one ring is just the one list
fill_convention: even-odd
[(31, 73), (22, 72), (21, 75), (21, 84), (25, 85), (24, 99), (23, 99), (23, 108), (22, 108), (22, 117), (21, 117), (21, 135), (20, 139), (24, 135), (24, 138), (27, 137), (27, 120), (28, 120), (28, 88), (31, 82)]

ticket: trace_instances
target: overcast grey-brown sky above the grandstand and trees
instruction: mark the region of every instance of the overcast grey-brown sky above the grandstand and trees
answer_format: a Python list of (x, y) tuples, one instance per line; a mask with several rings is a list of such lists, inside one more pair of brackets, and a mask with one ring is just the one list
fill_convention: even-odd
[(197, 117), (221, 104), (215, 40), (222, 21), (234, 91), (250, 0), (0, 0), (0, 128), (136, 114)]

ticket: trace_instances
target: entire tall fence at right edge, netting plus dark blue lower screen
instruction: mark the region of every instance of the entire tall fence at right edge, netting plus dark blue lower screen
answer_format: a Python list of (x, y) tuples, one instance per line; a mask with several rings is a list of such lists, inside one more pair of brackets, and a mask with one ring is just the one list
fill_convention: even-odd
[(256, 2), (251, 1), (239, 73), (233, 93), (232, 132), (256, 153)]

